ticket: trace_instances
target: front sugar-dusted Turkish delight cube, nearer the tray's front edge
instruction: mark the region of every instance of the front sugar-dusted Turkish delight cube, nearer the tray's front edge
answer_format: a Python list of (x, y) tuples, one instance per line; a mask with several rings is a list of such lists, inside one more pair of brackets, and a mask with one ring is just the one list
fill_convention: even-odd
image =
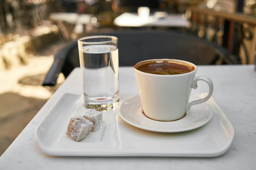
[(82, 140), (89, 136), (93, 122), (86, 120), (83, 116), (77, 115), (70, 119), (66, 135), (75, 141)]

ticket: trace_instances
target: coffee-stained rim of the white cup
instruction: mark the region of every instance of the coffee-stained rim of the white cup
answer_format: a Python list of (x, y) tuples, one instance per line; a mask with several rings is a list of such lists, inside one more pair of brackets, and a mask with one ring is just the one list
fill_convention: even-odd
[[(195, 70), (193, 70), (193, 71), (191, 71), (191, 72), (188, 72), (188, 73), (183, 73), (183, 74), (176, 74), (176, 75), (160, 75), (160, 74), (145, 73), (145, 72), (142, 72), (142, 71), (140, 71), (140, 70), (138, 70), (138, 69), (136, 68), (136, 66), (138, 66), (139, 64), (142, 64), (142, 63), (145, 63), (145, 62), (151, 62), (151, 61), (158, 61), (158, 60), (159, 60), (159, 61), (161, 61), (161, 60), (167, 60), (167, 61), (175, 61), (175, 62), (178, 62), (178, 63), (183, 63), (183, 64), (186, 64), (186, 65), (193, 66), (193, 67), (195, 68)], [(133, 69), (134, 69), (134, 71), (137, 71), (137, 72), (139, 72), (139, 73), (141, 73), (141, 74), (150, 75), (150, 76), (157, 76), (157, 77), (162, 77), (162, 76), (163, 76), (163, 77), (178, 77), (178, 76), (188, 75), (188, 74), (192, 74), (192, 73), (196, 72), (196, 71), (197, 71), (197, 66), (196, 66), (195, 64), (193, 64), (193, 63), (190, 63), (190, 62), (187, 62), (187, 61), (183, 61), (183, 60), (176, 60), (176, 59), (152, 59), (152, 60), (141, 61), (141, 62), (135, 64), (135, 65), (133, 66)]]

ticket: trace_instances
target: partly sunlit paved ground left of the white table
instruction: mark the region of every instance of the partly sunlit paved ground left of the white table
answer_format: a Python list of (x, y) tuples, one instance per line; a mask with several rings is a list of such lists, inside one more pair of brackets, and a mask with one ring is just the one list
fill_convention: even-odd
[(60, 75), (56, 87), (41, 86), (53, 54), (62, 46), (51, 45), (29, 59), (27, 65), (0, 72), (0, 156), (64, 81)]

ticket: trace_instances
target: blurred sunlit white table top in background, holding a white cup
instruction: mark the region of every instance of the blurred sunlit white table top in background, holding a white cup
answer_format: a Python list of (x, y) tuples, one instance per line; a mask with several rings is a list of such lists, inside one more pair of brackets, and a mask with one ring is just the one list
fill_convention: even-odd
[(149, 16), (148, 20), (141, 19), (137, 13), (125, 12), (114, 19), (114, 25), (123, 27), (186, 27), (189, 21), (181, 14), (169, 14), (164, 19)]

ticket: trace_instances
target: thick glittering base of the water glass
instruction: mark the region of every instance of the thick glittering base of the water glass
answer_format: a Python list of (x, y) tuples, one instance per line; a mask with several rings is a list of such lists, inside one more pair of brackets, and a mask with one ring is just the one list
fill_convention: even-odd
[(85, 103), (86, 108), (91, 108), (95, 109), (97, 111), (107, 111), (107, 110), (114, 110), (118, 108), (119, 106), (119, 99), (114, 101), (113, 103), (108, 103), (108, 104), (90, 104), (90, 103)]

